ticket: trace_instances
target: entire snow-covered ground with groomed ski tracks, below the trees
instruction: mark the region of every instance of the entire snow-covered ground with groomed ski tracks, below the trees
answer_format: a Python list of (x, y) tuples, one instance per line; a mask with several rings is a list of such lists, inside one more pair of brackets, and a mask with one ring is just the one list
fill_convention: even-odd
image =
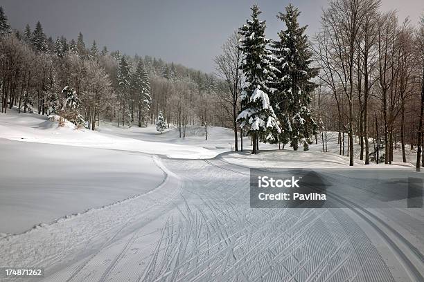
[[(45, 267), (42, 281), (424, 280), (423, 209), (382, 202), (370, 185), (423, 178), (409, 164), (356, 160), (351, 174), (334, 140), (332, 153), (260, 144), (252, 156), (229, 152), (231, 130), (210, 127), (207, 141), (203, 131), (76, 131), (0, 114), (0, 220), (20, 233), (0, 238), (0, 267)], [(339, 208), (251, 208), (249, 167), (327, 169)], [(12, 231), (21, 211), (35, 215)]]

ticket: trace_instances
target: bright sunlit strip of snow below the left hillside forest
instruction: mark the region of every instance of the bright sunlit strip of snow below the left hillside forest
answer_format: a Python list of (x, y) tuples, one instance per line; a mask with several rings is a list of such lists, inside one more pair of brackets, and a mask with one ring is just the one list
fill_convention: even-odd
[(47, 117), (25, 113), (18, 115), (15, 110), (8, 111), (6, 115), (0, 115), (0, 138), (153, 153), (170, 158), (213, 158), (217, 155), (216, 152), (202, 147), (169, 143), (165, 145), (160, 142), (145, 142), (118, 136), (111, 137), (87, 129), (76, 130), (70, 123), (62, 127), (58, 126), (58, 122), (51, 122)]

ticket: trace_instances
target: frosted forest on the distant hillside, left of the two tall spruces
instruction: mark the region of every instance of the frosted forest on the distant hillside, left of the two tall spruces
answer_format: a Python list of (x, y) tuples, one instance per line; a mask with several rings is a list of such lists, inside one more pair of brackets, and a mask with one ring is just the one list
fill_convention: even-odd
[[(180, 137), (187, 124), (229, 126), (218, 97), (226, 91), (211, 74), (150, 56), (133, 57), (96, 41), (47, 37), (42, 24), (14, 30), (0, 8), (1, 112), (58, 114), (96, 129), (100, 120), (118, 126), (154, 124), (160, 112), (176, 124)], [(73, 101), (73, 102), (69, 102)]]

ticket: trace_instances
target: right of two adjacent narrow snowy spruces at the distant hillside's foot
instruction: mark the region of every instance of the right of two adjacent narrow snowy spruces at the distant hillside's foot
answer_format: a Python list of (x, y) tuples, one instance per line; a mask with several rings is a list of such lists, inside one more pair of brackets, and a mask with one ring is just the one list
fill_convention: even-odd
[(132, 75), (131, 84), (132, 91), (134, 91), (135, 95), (134, 100), (137, 102), (139, 112), (139, 127), (141, 127), (142, 120), (145, 124), (147, 123), (147, 115), (152, 102), (148, 73), (145, 71), (141, 59), (136, 66), (136, 71)]

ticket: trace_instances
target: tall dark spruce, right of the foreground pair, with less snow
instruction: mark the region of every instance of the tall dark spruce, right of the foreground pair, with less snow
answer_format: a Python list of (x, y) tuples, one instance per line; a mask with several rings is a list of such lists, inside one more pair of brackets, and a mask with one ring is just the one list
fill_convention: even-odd
[(305, 34), (307, 26), (299, 27), (299, 15), (292, 4), (285, 8), (285, 13), (277, 15), (285, 23), (285, 30), (281, 30), (279, 40), (271, 44), (278, 59), (275, 66), (279, 69), (271, 84), (277, 89), (271, 100), (282, 126), (280, 142), (290, 142), (294, 150), (303, 143), (303, 149), (308, 150), (312, 135), (317, 133), (317, 124), (309, 109), (310, 93), (316, 87), (311, 79), (317, 76), (317, 69), (310, 67), (312, 53)]

